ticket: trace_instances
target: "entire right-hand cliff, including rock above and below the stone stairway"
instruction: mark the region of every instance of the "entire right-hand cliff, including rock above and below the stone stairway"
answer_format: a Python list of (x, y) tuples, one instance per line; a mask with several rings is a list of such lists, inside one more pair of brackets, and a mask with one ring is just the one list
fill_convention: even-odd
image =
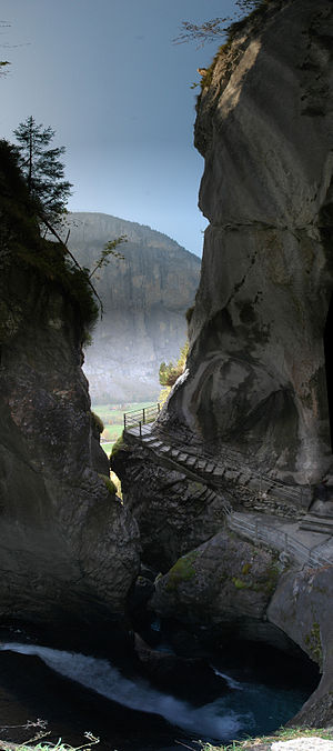
[[(276, 509), (296, 520), (300, 485), (332, 470), (332, 36), (329, 0), (272, 0), (233, 28), (206, 71), (195, 143), (210, 227), (188, 368), (153, 429), (160, 461), (131, 437), (113, 460), (144, 561), (160, 555), (158, 612), (215, 638), (230, 629), (296, 643), (323, 671), (297, 718), (316, 727), (332, 724), (333, 567), (278, 560), (273, 543), (230, 534), (223, 514), (261, 503), (274, 525), (265, 473), (291, 485)], [(219, 493), (209, 462), (222, 468)], [(252, 489), (245, 469), (258, 472)]]

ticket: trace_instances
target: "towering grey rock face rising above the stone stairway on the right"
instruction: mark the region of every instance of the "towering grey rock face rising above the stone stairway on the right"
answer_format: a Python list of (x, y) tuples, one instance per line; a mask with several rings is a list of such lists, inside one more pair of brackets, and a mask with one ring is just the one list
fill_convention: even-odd
[[(203, 88), (210, 220), (186, 380), (169, 403), (204, 442), (291, 482), (330, 468), (324, 328), (333, 288), (333, 8), (274, 1)], [(333, 331), (327, 336), (331, 341)]]

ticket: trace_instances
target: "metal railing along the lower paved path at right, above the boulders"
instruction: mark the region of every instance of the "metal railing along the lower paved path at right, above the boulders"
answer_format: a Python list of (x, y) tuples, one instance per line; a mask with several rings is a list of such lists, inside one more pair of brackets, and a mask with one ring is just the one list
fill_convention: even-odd
[(243, 533), (255, 542), (263, 542), (270, 548), (280, 550), (291, 558), (296, 559), (303, 565), (332, 565), (333, 560), (326, 558), (320, 550), (306, 548), (302, 542), (293, 538), (283, 530), (272, 529), (262, 520), (244, 519), (241, 514), (233, 512), (228, 515), (228, 525), (234, 532)]

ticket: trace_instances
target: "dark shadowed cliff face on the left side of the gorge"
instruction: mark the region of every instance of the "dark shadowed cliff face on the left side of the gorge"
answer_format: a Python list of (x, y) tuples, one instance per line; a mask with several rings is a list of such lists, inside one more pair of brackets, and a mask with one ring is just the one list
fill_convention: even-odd
[(0, 287), (0, 618), (97, 628), (124, 612), (139, 533), (93, 469), (82, 327), (10, 254)]

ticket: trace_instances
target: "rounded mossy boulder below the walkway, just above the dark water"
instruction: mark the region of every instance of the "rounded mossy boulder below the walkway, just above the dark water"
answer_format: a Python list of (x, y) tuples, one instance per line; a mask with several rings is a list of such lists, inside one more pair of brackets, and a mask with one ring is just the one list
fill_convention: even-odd
[(274, 553), (222, 531), (158, 579), (151, 607), (161, 617), (206, 627), (260, 622), (278, 579)]

